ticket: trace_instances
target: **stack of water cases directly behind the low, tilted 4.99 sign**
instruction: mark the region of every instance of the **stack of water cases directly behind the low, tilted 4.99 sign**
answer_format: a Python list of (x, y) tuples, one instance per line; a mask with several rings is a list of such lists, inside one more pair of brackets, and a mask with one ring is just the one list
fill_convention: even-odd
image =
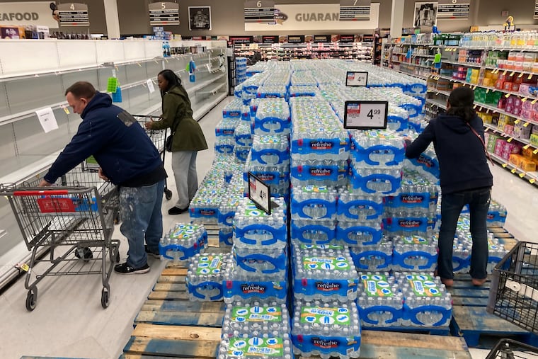
[(247, 156), (244, 181), (248, 191), (248, 172), (270, 186), (272, 197), (289, 198), (290, 146), (286, 135), (254, 135)]

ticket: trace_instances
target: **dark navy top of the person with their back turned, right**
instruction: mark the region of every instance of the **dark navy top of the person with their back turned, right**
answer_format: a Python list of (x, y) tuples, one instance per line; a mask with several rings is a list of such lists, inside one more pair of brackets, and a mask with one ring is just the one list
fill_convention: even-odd
[[(482, 120), (475, 115), (469, 125), (483, 139)], [(406, 156), (420, 156), (430, 142), (439, 160), (442, 193), (493, 186), (483, 144), (462, 118), (443, 113), (430, 120), (413, 143), (407, 141)]]

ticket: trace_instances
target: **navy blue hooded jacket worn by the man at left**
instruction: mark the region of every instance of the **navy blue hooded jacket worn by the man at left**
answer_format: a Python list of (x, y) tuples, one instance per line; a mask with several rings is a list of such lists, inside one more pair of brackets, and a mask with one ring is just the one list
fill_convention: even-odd
[(161, 156), (135, 118), (97, 92), (81, 113), (76, 135), (50, 167), (45, 181), (55, 183), (93, 155), (105, 176), (121, 185), (162, 166)]

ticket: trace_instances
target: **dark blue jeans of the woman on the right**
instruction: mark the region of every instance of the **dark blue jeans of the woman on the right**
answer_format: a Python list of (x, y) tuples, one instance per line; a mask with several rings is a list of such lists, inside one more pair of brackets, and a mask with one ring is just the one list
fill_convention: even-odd
[(452, 247), (459, 213), (464, 205), (469, 205), (471, 215), (471, 251), (472, 278), (486, 278), (488, 266), (488, 235), (486, 220), (488, 217), (491, 188), (464, 190), (462, 192), (442, 195), (441, 200), (441, 229), (439, 231), (439, 257), (437, 258), (437, 275), (441, 278), (452, 279)]

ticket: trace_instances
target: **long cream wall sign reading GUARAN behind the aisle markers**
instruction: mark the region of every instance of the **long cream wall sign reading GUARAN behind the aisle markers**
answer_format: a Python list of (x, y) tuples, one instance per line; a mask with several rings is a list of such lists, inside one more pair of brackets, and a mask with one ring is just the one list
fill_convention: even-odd
[(272, 23), (245, 23), (245, 31), (373, 30), (378, 28), (379, 3), (372, 3), (370, 20), (340, 21), (340, 4), (275, 4)]

